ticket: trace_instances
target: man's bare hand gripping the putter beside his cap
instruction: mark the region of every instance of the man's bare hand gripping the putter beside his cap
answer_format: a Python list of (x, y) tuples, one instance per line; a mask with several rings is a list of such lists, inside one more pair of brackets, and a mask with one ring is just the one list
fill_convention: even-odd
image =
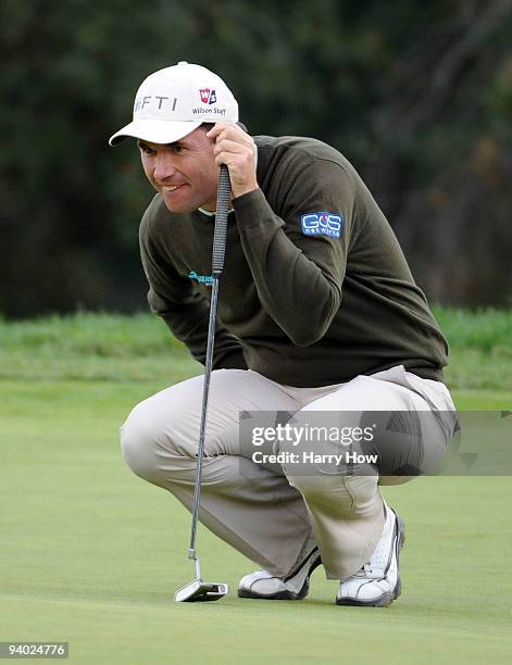
[(233, 198), (259, 189), (255, 176), (257, 147), (252, 137), (235, 123), (216, 123), (207, 136), (214, 141), (216, 164), (226, 164), (229, 170)]

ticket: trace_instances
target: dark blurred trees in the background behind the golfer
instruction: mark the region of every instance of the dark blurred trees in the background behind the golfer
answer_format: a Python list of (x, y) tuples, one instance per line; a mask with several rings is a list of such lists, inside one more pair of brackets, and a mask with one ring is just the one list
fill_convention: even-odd
[(179, 60), (226, 79), (252, 134), (344, 152), (430, 298), (511, 304), (512, 0), (51, 4), (0, 4), (0, 313), (146, 308), (151, 189), (107, 140)]

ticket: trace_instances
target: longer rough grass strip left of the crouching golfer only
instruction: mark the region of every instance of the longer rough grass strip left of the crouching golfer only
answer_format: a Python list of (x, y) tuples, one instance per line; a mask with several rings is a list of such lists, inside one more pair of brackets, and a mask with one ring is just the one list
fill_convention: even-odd
[(150, 314), (0, 321), (0, 379), (171, 384), (201, 366)]

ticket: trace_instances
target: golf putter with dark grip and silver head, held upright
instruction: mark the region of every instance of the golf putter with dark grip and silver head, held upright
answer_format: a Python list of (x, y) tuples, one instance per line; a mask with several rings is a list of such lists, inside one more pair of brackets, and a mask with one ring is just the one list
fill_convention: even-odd
[(229, 210), (229, 172), (225, 164), (221, 165), (218, 173), (217, 206), (215, 214), (215, 229), (213, 233), (212, 255), (212, 300), (210, 303), (210, 321), (208, 325), (207, 361), (204, 363), (204, 385), (202, 391), (201, 425), (199, 429), (198, 463), (196, 467), (196, 482), (193, 487), (192, 526), (190, 532), (190, 547), (187, 556), (196, 565), (196, 579), (174, 594), (176, 603), (196, 603), (220, 600), (229, 590), (223, 582), (208, 582), (201, 578), (201, 564), (196, 552), (197, 526), (199, 517), (199, 502), (201, 499), (201, 475), (204, 455), (204, 432), (207, 429), (208, 394), (210, 391), (210, 376), (212, 373), (213, 346), (215, 342), (215, 322), (218, 302), (218, 281), (224, 267), (226, 251), (227, 213)]

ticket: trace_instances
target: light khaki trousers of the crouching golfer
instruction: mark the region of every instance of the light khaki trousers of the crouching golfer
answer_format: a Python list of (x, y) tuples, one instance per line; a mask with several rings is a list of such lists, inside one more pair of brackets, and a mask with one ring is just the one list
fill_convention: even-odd
[[(138, 404), (121, 428), (123, 456), (141, 478), (191, 510), (203, 377)], [(257, 464), (241, 446), (240, 412), (454, 412), (446, 386), (403, 366), (320, 388), (282, 386), (241, 369), (212, 373), (199, 518), (274, 575), (286, 576), (314, 541), (329, 579), (345, 579), (371, 556), (384, 527), (380, 484), (408, 478), (295, 475), (291, 465)], [(445, 450), (439, 428), (429, 454)], [(430, 437), (432, 439), (432, 437)]]

